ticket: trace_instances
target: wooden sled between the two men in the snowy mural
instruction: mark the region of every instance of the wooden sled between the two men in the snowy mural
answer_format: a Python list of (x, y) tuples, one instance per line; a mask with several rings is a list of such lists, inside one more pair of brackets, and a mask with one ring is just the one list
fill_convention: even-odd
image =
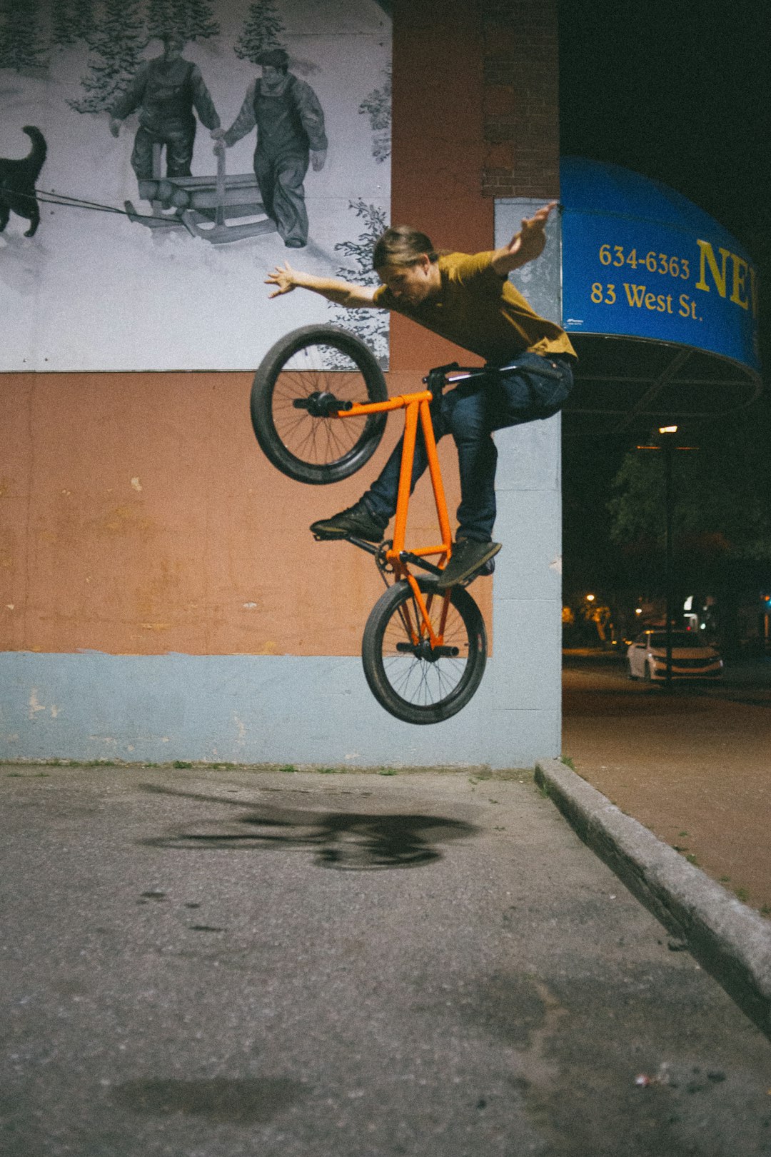
[[(276, 233), (275, 221), (266, 214), (260, 200), (254, 174), (228, 177), (224, 148), (217, 150), (216, 157), (214, 178), (161, 177), (161, 146), (154, 145), (153, 179), (140, 180), (139, 185), (140, 196), (150, 201), (153, 212), (138, 213), (131, 201), (125, 201), (128, 219), (150, 229), (184, 228), (191, 236), (202, 237), (213, 245)], [(243, 218), (261, 220), (244, 221)]]

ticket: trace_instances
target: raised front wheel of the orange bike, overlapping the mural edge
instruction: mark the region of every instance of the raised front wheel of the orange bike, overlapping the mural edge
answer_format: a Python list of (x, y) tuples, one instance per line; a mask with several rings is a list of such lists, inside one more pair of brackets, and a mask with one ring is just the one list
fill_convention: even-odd
[(375, 454), (386, 415), (333, 414), (351, 403), (387, 397), (383, 371), (363, 341), (333, 325), (306, 325), (276, 341), (260, 362), (252, 383), (252, 426), (262, 452), (282, 473), (316, 486), (338, 482)]

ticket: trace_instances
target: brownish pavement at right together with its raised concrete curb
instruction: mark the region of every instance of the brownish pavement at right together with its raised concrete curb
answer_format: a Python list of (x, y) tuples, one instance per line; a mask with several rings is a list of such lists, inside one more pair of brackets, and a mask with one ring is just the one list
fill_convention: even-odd
[(539, 782), (771, 1036), (768, 665), (666, 693), (624, 679), (614, 656), (569, 662), (565, 757)]

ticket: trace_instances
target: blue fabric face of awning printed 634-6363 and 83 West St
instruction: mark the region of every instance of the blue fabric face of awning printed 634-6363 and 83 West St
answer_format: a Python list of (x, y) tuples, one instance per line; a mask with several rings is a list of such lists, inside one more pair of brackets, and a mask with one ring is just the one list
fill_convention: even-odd
[(759, 369), (758, 283), (739, 242), (658, 180), (561, 163), (563, 325), (673, 341)]

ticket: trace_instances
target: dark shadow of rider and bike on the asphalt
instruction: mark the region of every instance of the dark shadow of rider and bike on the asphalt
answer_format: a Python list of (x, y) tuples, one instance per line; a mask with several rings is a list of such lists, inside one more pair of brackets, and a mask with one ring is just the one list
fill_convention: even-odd
[[(224, 799), (217, 795), (179, 791), (151, 783), (141, 790), (179, 796), (202, 803), (243, 809), (238, 818), (210, 818), (194, 831), (148, 837), (144, 847), (190, 849), (298, 848), (313, 852), (321, 868), (341, 871), (373, 871), (385, 868), (418, 868), (442, 858), (437, 845), (468, 839), (479, 831), (473, 824), (442, 816), (390, 812), (321, 811), (273, 806)], [(247, 831), (243, 831), (246, 827)]]

